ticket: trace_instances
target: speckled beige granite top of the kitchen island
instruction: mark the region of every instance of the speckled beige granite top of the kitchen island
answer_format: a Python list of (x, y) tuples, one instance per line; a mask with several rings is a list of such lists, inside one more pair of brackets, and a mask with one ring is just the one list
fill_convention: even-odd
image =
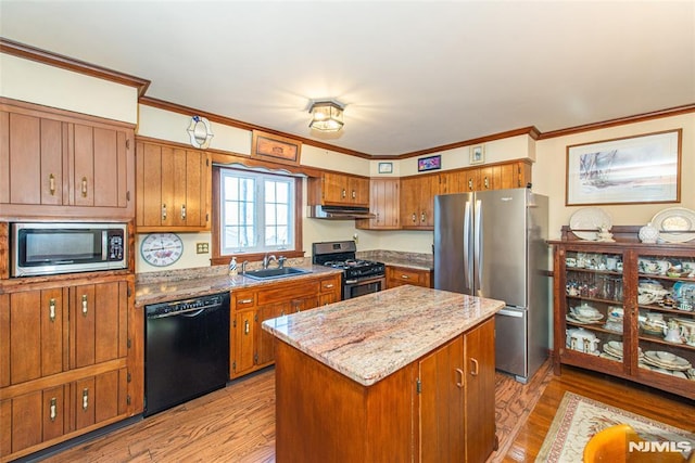
[(370, 386), (503, 307), (501, 300), (405, 285), (266, 320), (263, 329)]

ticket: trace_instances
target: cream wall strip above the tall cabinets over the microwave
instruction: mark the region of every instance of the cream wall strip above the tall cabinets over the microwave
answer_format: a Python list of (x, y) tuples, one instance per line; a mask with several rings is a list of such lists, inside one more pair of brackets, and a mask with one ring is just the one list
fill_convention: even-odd
[(0, 95), (137, 124), (138, 89), (0, 53)]

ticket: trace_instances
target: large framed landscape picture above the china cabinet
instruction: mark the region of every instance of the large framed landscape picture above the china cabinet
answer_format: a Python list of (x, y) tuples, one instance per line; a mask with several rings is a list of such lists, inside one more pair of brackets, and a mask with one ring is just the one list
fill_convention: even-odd
[(678, 203), (683, 129), (567, 146), (567, 206)]

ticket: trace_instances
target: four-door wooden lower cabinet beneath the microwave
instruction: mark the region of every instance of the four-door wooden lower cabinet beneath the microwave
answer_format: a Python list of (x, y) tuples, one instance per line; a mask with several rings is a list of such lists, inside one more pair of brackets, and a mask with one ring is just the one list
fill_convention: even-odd
[(141, 411), (128, 338), (132, 279), (100, 281), (1, 288), (2, 461)]

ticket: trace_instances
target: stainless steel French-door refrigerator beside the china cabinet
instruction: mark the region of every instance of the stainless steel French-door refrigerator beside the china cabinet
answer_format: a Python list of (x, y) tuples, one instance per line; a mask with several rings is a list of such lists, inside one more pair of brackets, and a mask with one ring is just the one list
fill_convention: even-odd
[(504, 300), (497, 370), (527, 383), (549, 342), (547, 197), (529, 189), (434, 197), (434, 287)]

